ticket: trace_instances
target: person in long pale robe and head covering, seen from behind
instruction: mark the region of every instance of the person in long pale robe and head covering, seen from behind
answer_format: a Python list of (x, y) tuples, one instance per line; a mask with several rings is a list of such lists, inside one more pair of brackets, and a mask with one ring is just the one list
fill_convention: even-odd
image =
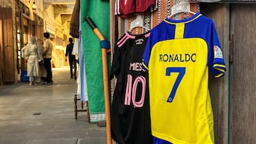
[(39, 64), (43, 62), (43, 55), (34, 36), (31, 36), (30, 43), (25, 46), (24, 52), (28, 60), (27, 75), (29, 77), (29, 85), (41, 83)]

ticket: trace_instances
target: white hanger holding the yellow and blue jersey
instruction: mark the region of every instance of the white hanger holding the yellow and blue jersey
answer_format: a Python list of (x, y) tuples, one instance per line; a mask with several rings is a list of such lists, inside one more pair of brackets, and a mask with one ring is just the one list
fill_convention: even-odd
[(176, 4), (171, 7), (171, 15), (168, 16), (168, 18), (175, 16), (177, 13), (183, 12), (196, 14), (193, 11), (190, 11), (190, 3), (188, 2), (188, 0), (181, 0), (179, 4)]

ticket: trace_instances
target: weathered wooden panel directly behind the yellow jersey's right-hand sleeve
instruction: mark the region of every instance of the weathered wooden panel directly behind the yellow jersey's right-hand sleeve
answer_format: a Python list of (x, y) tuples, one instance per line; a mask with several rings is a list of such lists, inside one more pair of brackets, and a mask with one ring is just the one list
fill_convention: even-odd
[(213, 106), (216, 144), (228, 143), (228, 79), (229, 79), (229, 9), (227, 4), (201, 4), (201, 13), (212, 18), (218, 33), (227, 72), (216, 79), (209, 74), (210, 98)]

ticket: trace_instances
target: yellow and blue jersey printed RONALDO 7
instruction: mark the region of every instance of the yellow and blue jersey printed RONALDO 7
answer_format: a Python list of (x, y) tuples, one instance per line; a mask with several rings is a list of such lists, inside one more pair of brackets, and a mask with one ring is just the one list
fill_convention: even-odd
[(170, 143), (214, 143), (208, 70), (222, 77), (225, 62), (213, 21), (201, 13), (164, 19), (151, 30), (143, 65), (152, 135)]

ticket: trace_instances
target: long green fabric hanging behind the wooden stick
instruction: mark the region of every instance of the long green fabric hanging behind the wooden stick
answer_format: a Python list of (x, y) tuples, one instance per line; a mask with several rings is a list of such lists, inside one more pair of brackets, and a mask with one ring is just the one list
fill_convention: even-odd
[(110, 40), (110, 1), (82, 0), (80, 1), (80, 15), (90, 121), (105, 121), (100, 40), (85, 21), (85, 17), (90, 16), (105, 40)]

